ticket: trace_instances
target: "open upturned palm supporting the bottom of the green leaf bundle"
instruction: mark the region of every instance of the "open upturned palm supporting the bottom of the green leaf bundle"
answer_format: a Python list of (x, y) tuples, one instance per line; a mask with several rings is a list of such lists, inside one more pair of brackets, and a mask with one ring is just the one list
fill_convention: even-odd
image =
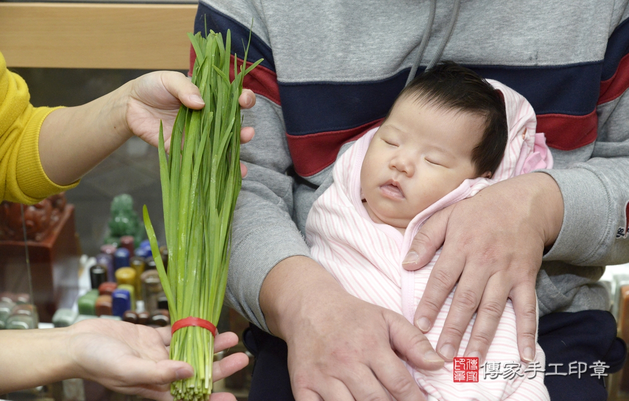
[[(171, 361), (170, 327), (153, 329), (144, 325), (104, 319), (83, 320), (70, 326), (67, 353), (72, 356), (74, 376), (97, 381), (111, 390), (172, 401), (170, 382), (192, 376), (192, 366)], [(232, 332), (214, 340), (214, 353), (238, 344)], [(214, 362), (212, 379), (225, 378), (247, 366), (243, 353)], [(232, 394), (215, 393), (210, 401), (235, 401)]]

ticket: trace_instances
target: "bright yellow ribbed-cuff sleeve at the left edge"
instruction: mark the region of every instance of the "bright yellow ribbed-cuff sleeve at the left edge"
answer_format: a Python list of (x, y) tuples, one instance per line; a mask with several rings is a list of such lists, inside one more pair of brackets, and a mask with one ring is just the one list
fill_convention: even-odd
[(40, 128), (56, 109), (33, 107), (26, 82), (8, 71), (0, 53), (0, 200), (37, 203), (79, 184), (57, 185), (42, 168)]

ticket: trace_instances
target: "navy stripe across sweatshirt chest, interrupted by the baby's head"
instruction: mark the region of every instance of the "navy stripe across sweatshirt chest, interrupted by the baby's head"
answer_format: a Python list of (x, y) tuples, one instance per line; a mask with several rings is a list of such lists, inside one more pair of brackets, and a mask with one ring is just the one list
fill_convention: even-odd
[[(468, 67), (521, 93), (537, 114), (583, 116), (596, 108), (601, 65)], [(408, 72), (405, 69), (382, 81), (279, 82), (286, 131), (289, 135), (308, 135), (346, 130), (382, 118), (404, 88)]]

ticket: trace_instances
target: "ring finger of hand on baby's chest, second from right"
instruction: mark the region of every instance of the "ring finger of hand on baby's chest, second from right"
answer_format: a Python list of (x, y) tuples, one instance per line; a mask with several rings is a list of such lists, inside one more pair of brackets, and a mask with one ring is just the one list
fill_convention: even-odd
[(509, 295), (509, 290), (502, 280), (503, 278), (499, 274), (494, 274), (487, 281), (476, 313), (474, 327), (472, 327), (472, 335), (467, 347), (465, 347), (465, 356), (479, 358), (481, 364), (487, 356), (491, 341), (494, 339)]

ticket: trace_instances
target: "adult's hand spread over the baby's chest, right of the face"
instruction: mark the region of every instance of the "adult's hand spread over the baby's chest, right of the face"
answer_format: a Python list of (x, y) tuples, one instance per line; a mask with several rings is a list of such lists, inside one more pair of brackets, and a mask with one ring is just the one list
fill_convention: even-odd
[(404, 268), (425, 266), (443, 244), (415, 313), (415, 325), (423, 332), (430, 330), (458, 281), (437, 342), (444, 359), (457, 355), (476, 311), (465, 356), (483, 359), (507, 298), (516, 313), (520, 358), (535, 358), (535, 280), (544, 248), (557, 239), (563, 218), (557, 183), (548, 174), (534, 172), (493, 184), (435, 213), (421, 227)]

